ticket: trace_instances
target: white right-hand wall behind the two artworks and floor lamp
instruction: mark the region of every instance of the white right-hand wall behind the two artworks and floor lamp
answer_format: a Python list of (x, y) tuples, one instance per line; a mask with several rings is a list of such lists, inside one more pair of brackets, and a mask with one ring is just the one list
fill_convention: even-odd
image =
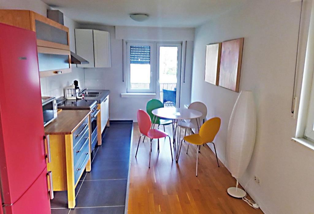
[[(204, 81), (205, 48), (209, 43), (244, 37), (240, 90), (253, 91), (257, 137), (251, 163), (240, 183), (244, 186), (250, 181), (246, 189), (265, 213), (313, 213), (314, 151), (291, 141), (296, 127), (290, 108), (300, 4), (247, 1), (195, 31), (191, 101), (204, 102), (208, 118), (221, 118), (215, 142), (223, 162), (227, 127), (238, 93)], [(310, 11), (311, 1), (304, 1), (297, 94)], [(260, 185), (253, 181), (254, 175), (260, 178)]]

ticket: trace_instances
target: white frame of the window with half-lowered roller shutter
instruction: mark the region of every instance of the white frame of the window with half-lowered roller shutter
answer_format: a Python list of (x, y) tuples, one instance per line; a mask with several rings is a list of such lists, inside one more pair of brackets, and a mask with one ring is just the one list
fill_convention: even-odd
[[(131, 46), (150, 46), (150, 84), (149, 89), (131, 89)], [(127, 62), (126, 62), (126, 76), (127, 76), (127, 93), (155, 93), (156, 92), (156, 44), (148, 41), (127, 41)]]

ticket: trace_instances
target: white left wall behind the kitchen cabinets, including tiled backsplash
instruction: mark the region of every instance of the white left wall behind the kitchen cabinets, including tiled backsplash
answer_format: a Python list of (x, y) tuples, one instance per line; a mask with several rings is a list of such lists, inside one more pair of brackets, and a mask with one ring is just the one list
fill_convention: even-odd
[[(5, 0), (0, 1), (0, 9), (23, 9), (32, 10), (43, 16), (47, 15), (47, 9), (50, 7), (40, 0)], [(77, 23), (72, 19), (64, 16), (64, 25), (69, 28), (70, 33), (70, 49), (75, 52), (74, 28)], [(73, 65), (72, 65), (73, 66)], [(63, 88), (78, 80), (82, 88), (84, 88), (84, 69), (72, 67), (72, 72), (52, 77), (41, 78), (41, 95), (42, 96), (63, 96)]]

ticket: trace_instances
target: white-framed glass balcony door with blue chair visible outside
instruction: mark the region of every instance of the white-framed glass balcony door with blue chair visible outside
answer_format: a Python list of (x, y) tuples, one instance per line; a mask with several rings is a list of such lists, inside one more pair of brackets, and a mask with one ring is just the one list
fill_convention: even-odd
[(157, 43), (156, 95), (165, 107), (180, 107), (181, 43)]

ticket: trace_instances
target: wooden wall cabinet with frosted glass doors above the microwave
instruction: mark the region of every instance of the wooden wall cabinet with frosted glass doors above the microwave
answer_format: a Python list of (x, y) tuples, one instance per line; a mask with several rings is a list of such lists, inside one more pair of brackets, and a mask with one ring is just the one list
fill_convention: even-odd
[(40, 77), (71, 72), (66, 26), (30, 10), (0, 10), (0, 22), (36, 32)]

